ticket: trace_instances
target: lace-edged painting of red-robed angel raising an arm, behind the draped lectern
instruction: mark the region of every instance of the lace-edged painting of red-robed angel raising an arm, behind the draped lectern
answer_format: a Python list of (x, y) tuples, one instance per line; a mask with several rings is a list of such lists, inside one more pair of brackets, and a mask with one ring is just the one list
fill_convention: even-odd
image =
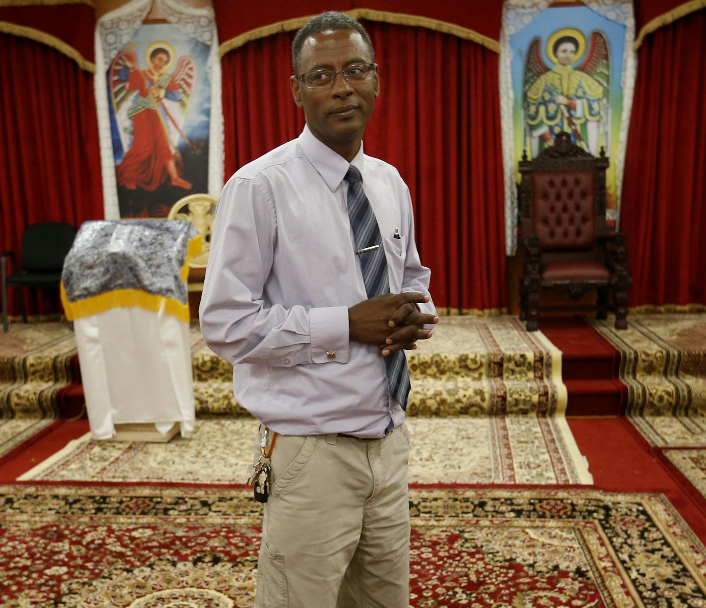
[(180, 15), (169, 0), (161, 7), (169, 19), (145, 20), (154, 5), (131, 4), (131, 15), (99, 23), (112, 152), (103, 159), (108, 219), (167, 217), (181, 198), (210, 191), (209, 163), (219, 160), (210, 158), (213, 9)]

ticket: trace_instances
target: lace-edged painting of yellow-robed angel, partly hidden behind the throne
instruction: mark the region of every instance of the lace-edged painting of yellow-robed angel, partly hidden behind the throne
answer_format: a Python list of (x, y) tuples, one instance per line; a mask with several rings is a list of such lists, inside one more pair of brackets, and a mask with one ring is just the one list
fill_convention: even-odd
[(515, 183), (523, 154), (536, 158), (559, 133), (610, 158), (606, 219), (619, 218), (627, 127), (635, 81), (633, 6), (628, 0), (549, 5), (506, 0), (501, 42), (506, 245), (514, 253)]

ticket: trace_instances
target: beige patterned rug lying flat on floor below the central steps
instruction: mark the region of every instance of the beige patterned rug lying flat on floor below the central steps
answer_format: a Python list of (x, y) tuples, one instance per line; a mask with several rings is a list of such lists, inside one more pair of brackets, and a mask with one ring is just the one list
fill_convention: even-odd
[[(85, 434), (19, 480), (241, 484), (251, 472), (257, 424), (200, 418), (191, 439), (167, 444), (95, 442)], [(412, 483), (592, 482), (570, 433), (548, 444), (537, 418), (409, 418), (407, 427)]]

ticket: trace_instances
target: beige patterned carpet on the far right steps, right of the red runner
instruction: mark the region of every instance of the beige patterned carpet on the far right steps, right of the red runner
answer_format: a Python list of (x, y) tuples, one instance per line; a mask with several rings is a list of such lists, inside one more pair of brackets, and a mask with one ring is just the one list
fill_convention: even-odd
[(590, 319), (621, 352), (626, 414), (654, 446), (706, 446), (706, 315), (628, 315)]

